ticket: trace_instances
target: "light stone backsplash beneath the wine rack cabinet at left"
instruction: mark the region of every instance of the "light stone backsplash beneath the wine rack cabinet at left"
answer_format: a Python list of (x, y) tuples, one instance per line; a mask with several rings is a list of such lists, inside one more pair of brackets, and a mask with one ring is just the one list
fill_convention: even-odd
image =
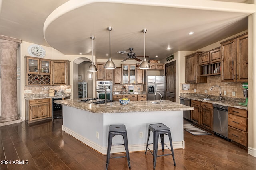
[(31, 97), (31, 96), (49, 96), (49, 90), (64, 90), (65, 94), (71, 94), (71, 91), (67, 91), (67, 89), (71, 90), (70, 85), (65, 86), (24, 86), (24, 92), (25, 90), (31, 90), (31, 93), (24, 93), (24, 97)]

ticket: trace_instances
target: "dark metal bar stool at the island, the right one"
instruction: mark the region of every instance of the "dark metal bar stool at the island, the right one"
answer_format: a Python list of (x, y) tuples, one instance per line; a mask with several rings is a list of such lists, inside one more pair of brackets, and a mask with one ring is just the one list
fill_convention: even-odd
[[(150, 131), (153, 132), (153, 143), (148, 143), (149, 136), (150, 136)], [(172, 152), (171, 154), (163, 154), (159, 156), (167, 156), (167, 155), (172, 155), (172, 159), (174, 162), (174, 166), (176, 166), (175, 159), (174, 159), (174, 152), (173, 152), (173, 147), (172, 147), (172, 136), (171, 136), (171, 130), (169, 127), (162, 123), (156, 123), (156, 124), (150, 124), (148, 125), (148, 140), (147, 140), (147, 146), (146, 146), (146, 151), (145, 154), (147, 154), (147, 149), (151, 152), (151, 150), (148, 148), (148, 145), (153, 144), (153, 165), (154, 169), (156, 168), (156, 157), (159, 157), (157, 155), (157, 147), (158, 147), (158, 138), (161, 138), (161, 145), (162, 145), (162, 150), (164, 152), (164, 145)], [(169, 141), (171, 145), (171, 149), (164, 143), (164, 135), (169, 136)]]

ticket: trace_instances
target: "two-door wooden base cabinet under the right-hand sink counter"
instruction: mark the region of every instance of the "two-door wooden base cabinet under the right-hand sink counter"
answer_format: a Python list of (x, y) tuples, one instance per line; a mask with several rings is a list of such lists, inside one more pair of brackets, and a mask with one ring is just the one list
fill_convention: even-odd
[(191, 111), (191, 121), (213, 131), (213, 107), (212, 104), (206, 102), (200, 102), (191, 100), (191, 107), (194, 110)]

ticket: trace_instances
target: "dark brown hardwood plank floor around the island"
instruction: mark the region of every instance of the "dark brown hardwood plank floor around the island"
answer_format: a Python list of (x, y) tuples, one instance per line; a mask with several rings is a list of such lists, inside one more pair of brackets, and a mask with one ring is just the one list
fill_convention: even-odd
[[(256, 158), (224, 139), (214, 135), (193, 136), (184, 131), (184, 140), (186, 148), (174, 150), (176, 167), (172, 156), (162, 156), (157, 158), (156, 170), (256, 169)], [(106, 167), (106, 156), (62, 132), (62, 119), (30, 126), (23, 121), (0, 127), (0, 160), (1, 170), (104, 170)], [(132, 170), (152, 170), (152, 160), (150, 152), (130, 153)], [(128, 169), (126, 158), (110, 159), (108, 170)]]

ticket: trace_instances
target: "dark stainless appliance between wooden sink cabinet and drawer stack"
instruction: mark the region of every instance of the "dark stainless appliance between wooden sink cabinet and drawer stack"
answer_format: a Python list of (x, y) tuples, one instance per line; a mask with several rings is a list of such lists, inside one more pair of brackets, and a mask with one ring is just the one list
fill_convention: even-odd
[(228, 139), (228, 106), (212, 104), (213, 131), (215, 135)]

